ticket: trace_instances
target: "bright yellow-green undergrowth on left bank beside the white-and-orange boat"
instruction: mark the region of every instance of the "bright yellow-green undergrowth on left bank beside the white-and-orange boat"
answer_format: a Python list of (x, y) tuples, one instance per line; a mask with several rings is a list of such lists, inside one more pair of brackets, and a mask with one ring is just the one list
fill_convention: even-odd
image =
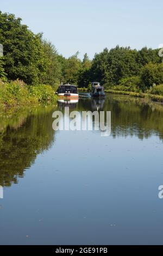
[(0, 80), (0, 108), (27, 106), (39, 102), (47, 103), (57, 99), (51, 86), (39, 84), (27, 86), (23, 81), (3, 82)]

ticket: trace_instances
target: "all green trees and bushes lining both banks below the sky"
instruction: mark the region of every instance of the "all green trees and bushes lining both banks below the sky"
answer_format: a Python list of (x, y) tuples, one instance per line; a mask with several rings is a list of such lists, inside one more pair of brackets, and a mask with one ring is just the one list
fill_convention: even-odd
[(65, 58), (42, 33), (34, 34), (22, 25), (21, 18), (1, 11), (0, 43), (4, 54), (0, 57), (3, 107), (52, 101), (61, 82), (77, 84), (84, 90), (90, 89), (92, 81), (99, 81), (106, 92), (156, 95), (151, 97), (159, 101), (163, 96), (159, 49), (132, 50), (117, 45), (96, 53), (92, 60), (86, 53), (80, 60), (79, 52)]

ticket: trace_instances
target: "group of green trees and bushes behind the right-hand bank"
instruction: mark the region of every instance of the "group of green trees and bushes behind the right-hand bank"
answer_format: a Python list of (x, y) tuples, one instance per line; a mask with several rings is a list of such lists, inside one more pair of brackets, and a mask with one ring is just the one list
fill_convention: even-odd
[(89, 82), (99, 81), (113, 89), (115, 86), (120, 89), (121, 86), (121, 90), (144, 91), (153, 83), (162, 83), (162, 64), (158, 52), (158, 49), (147, 47), (140, 51), (118, 45), (110, 51), (105, 48), (103, 52), (95, 54), (86, 72), (80, 72), (79, 86), (82, 86), (82, 82), (87, 87)]

